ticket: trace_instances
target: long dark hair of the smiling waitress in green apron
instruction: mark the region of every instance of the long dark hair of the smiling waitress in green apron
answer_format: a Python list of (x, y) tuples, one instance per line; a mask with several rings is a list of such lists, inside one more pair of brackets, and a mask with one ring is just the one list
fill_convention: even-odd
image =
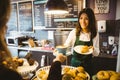
[(83, 13), (86, 13), (89, 18), (88, 30), (91, 32), (91, 38), (93, 39), (97, 34), (97, 28), (95, 14), (91, 8), (84, 8), (82, 11), (80, 11), (78, 15), (78, 25), (76, 27), (76, 36), (80, 36), (80, 32), (82, 30), (81, 25), (79, 23), (79, 18)]

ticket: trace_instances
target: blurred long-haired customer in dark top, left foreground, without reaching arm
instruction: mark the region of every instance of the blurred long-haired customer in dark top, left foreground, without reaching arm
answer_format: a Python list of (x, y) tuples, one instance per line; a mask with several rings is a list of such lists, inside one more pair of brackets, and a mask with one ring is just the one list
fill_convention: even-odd
[(22, 80), (15, 71), (16, 65), (12, 62), (12, 56), (5, 43), (10, 11), (10, 0), (0, 0), (0, 80)]

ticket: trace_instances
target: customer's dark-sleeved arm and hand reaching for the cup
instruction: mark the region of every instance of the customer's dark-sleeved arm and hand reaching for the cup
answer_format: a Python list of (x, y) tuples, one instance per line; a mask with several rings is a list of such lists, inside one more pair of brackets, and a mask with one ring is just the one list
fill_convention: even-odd
[(61, 63), (66, 60), (66, 56), (63, 54), (58, 54), (56, 58), (53, 60), (51, 65), (49, 75), (47, 80), (62, 80), (62, 67)]

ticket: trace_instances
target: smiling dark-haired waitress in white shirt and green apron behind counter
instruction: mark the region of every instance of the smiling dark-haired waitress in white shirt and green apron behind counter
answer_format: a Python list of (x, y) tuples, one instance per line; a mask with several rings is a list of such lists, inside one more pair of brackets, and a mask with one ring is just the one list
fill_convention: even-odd
[[(92, 56), (99, 55), (99, 36), (95, 15), (91, 8), (84, 8), (80, 11), (78, 26), (69, 33), (64, 45), (72, 47), (71, 66), (83, 66), (92, 75)], [(92, 46), (93, 53), (88, 55), (77, 53), (73, 48), (78, 45)]]

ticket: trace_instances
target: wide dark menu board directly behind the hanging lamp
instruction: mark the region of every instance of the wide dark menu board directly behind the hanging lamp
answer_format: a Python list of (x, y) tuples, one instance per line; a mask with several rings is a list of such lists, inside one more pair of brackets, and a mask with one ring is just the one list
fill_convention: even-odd
[[(74, 28), (78, 21), (82, 0), (64, 0), (69, 14), (47, 15), (44, 13), (47, 0), (34, 1), (34, 27)], [(78, 5), (79, 4), (79, 5)]]

